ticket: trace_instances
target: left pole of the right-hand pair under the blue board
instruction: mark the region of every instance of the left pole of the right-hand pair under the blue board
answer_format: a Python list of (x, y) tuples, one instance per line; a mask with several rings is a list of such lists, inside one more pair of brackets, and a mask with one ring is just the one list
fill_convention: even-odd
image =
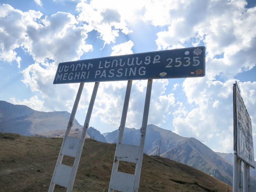
[[(124, 97), (124, 102), (123, 102), (123, 112), (122, 112), (121, 122), (120, 122), (120, 127), (119, 127), (119, 135), (118, 135), (118, 139), (116, 142), (116, 152), (117, 152), (119, 145), (123, 142), (123, 132), (124, 132), (124, 128), (126, 125), (126, 117), (127, 117), (132, 83), (133, 83), (133, 81), (131, 81), (131, 80), (129, 80), (127, 82), (126, 95)], [(116, 159), (116, 154), (115, 154), (114, 163), (113, 163), (112, 172), (111, 172), (111, 178), (112, 178), (112, 174), (118, 170), (118, 166), (119, 166), (119, 160)], [(109, 185), (109, 192), (114, 192), (114, 190), (110, 188), (110, 185)]]

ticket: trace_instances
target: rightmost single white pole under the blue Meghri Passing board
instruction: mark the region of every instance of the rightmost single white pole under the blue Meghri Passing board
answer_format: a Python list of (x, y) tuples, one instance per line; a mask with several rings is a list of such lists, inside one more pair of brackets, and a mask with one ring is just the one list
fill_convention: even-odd
[(135, 184), (134, 184), (134, 191), (138, 192), (139, 185), (140, 185), (140, 173), (142, 168), (142, 159), (143, 159), (143, 152), (144, 152), (144, 145), (145, 145), (145, 137), (146, 137), (146, 130), (147, 130), (147, 120), (149, 115), (149, 104), (150, 104), (150, 97), (151, 97), (151, 90), (152, 90), (152, 79), (147, 81), (147, 92), (146, 92), (146, 99), (145, 99), (145, 106), (142, 118), (142, 126), (140, 130), (140, 148), (138, 154), (138, 162), (135, 168)]

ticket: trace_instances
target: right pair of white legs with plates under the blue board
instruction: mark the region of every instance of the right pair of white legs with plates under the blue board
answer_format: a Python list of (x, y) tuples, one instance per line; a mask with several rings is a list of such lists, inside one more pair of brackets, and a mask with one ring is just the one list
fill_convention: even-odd
[[(122, 144), (123, 140), (123, 131), (125, 126), (125, 119), (127, 115), (128, 97), (130, 95), (130, 85), (128, 82), (127, 91), (126, 91), (126, 98), (125, 104), (123, 107), (123, 114), (121, 125), (119, 128), (119, 137), (118, 142), (116, 144), (116, 152), (114, 157), (114, 163), (112, 167), (111, 179), (109, 184), (109, 192), (114, 192), (114, 190), (122, 191), (122, 192), (137, 192), (139, 190), (139, 183), (140, 183), (140, 173), (142, 168), (142, 159), (143, 159), (143, 151), (144, 151), (144, 144), (145, 144), (145, 137), (146, 137), (146, 130), (147, 130), (147, 120), (149, 114), (149, 104), (150, 104), (150, 97), (151, 97), (151, 90), (152, 90), (152, 79), (148, 80), (147, 83), (147, 92), (145, 98), (145, 106), (142, 118), (142, 127), (140, 130), (140, 145), (127, 145)], [(123, 173), (119, 172), (118, 165), (119, 161), (126, 161), (135, 163), (135, 174)]]

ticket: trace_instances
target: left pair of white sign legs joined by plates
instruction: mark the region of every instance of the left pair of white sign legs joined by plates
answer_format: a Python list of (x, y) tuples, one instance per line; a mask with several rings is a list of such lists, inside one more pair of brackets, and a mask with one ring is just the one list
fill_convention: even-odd
[[(76, 96), (76, 102), (74, 104), (74, 107), (71, 113), (72, 118), (70, 117), (71, 120), (69, 121), (68, 128), (66, 129), (66, 134), (62, 142), (62, 147), (59, 152), (57, 164), (55, 166), (55, 170), (52, 175), (52, 180), (51, 180), (48, 192), (53, 192), (55, 184), (66, 187), (67, 188), (66, 192), (71, 192), (73, 189), (74, 181), (76, 178), (76, 172), (77, 172), (78, 164), (81, 158), (83, 145), (85, 141), (85, 135), (89, 126), (90, 116), (92, 114), (92, 108), (95, 102), (95, 97), (97, 94), (99, 82), (96, 82), (94, 85), (94, 89), (93, 89), (92, 97), (88, 107), (88, 112), (85, 118), (85, 123), (83, 126), (81, 138), (69, 137), (70, 129), (71, 129), (71, 126), (73, 126), (74, 116), (76, 114), (78, 103), (83, 90), (83, 85), (84, 83), (81, 83)], [(62, 164), (62, 159), (64, 155), (75, 157), (72, 167)]]

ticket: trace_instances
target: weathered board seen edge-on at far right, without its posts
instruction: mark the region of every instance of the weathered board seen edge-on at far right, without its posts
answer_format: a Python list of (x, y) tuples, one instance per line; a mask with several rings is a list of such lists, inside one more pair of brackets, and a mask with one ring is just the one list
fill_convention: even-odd
[(239, 159), (254, 168), (254, 145), (251, 118), (244, 105), (237, 83), (233, 87), (234, 151)]

